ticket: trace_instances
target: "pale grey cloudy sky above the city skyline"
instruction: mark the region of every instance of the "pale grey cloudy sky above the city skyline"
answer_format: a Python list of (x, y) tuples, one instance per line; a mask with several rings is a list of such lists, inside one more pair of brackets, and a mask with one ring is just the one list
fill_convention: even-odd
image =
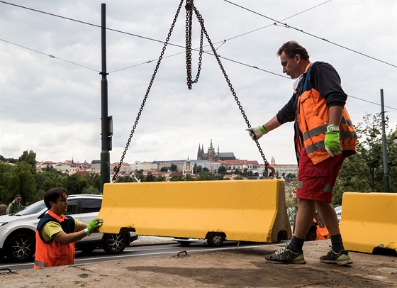
[[(0, 155), (18, 158), (33, 150), (37, 160), (100, 159), (101, 3), (111, 29), (106, 32), (111, 162), (120, 160), (179, 0), (1, 1)], [(297, 40), (312, 62), (337, 69), (354, 123), (381, 111), (384, 89), (389, 125), (396, 128), (396, 0), (194, 4), (251, 126), (269, 120), (291, 97), (293, 81), (283, 75), (276, 51)], [(212, 139), (220, 152), (263, 163), (206, 40), (200, 78), (187, 89), (185, 14), (183, 5), (124, 161), (196, 159), (198, 145), (206, 152)], [(199, 43), (194, 18), (192, 47)], [(198, 52), (192, 52), (192, 63), (195, 75)], [(296, 162), (292, 123), (259, 143), (267, 160)]]

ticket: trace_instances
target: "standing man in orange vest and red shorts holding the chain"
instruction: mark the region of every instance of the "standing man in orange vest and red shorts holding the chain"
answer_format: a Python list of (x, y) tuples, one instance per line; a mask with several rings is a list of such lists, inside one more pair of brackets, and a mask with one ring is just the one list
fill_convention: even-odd
[(298, 159), (298, 213), (290, 243), (265, 260), (272, 263), (306, 262), (303, 243), (313, 223), (315, 210), (325, 222), (331, 238), (331, 249), (320, 262), (337, 265), (352, 263), (345, 250), (335, 209), (331, 205), (337, 173), (345, 157), (356, 153), (357, 134), (345, 108), (347, 94), (336, 70), (328, 63), (309, 60), (308, 52), (295, 41), (289, 41), (277, 52), (283, 72), (293, 83), (293, 96), (267, 123), (248, 128), (253, 140), (295, 121), (295, 149)]

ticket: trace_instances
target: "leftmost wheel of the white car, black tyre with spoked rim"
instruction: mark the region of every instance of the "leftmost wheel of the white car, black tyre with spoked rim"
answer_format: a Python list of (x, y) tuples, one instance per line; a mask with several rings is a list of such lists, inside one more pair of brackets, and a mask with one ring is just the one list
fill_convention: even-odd
[(18, 234), (9, 240), (6, 256), (12, 262), (24, 262), (35, 254), (35, 239), (28, 234)]

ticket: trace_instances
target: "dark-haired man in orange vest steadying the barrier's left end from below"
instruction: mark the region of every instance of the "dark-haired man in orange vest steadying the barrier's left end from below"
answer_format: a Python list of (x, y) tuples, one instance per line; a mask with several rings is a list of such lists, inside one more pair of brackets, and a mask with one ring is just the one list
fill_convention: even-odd
[(36, 230), (35, 268), (71, 265), (74, 263), (74, 243), (98, 232), (102, 219), (88, 225), (65, 216), (67, 191), (54, 188), (45, 192), (44, 203), (48, 213), (38, 222)]

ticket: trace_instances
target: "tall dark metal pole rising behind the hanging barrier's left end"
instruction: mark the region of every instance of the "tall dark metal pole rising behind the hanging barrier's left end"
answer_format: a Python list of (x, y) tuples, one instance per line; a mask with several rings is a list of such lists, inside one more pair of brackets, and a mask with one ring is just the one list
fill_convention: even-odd
[[(106, 4), (101, 4), (101, 48), (102, 48), (102, 75), (101, 79), (101, 194), (104, 192), (104, 184), (111, 179), (111, 135), (112, 118), (108, 117), (108, 79), (106, 76)], [(109, 133), (110, 131), (110, 133)], [(110, 135), (109, 135), (110, 134)], [(109, 149), (110, 148), (110, 149)]]

